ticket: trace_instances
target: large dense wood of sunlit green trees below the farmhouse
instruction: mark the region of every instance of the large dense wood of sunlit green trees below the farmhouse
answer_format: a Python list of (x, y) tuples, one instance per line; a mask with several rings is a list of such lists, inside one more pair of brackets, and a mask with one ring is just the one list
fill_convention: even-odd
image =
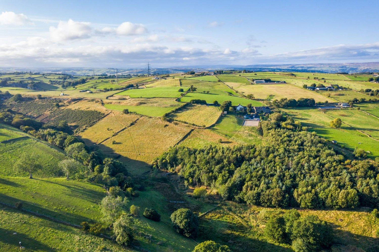
[[(379, 206), (379, 164), (346, 160), (310, 132), (263, 121), (264, 145), (171, 148), (153, 163), (222, 198), (268, 207)], [(291, 126), (291, 124), (288, 124)], [(288, 127), (289, 127), (288, 126)]]

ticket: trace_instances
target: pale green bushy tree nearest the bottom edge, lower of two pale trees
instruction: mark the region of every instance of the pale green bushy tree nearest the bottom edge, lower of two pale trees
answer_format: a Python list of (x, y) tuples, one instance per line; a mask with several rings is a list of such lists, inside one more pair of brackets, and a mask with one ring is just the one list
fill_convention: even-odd
[(133, 239), (133, 220), (131, 217), (122, 215), (113, 223), (113, 232), (116, 235), (116, 242), (120, 245), (129, 246)]

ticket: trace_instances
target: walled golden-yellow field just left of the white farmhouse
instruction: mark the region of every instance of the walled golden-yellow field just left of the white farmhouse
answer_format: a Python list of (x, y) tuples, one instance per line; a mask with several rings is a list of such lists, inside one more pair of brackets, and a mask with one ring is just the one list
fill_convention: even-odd
[(218, 107), (189, 104), (170, 114), (169, 117), (175, 120), (185, 121), (189, 124), (208, 127), (217, 121), (220, 114), (221, 111)]

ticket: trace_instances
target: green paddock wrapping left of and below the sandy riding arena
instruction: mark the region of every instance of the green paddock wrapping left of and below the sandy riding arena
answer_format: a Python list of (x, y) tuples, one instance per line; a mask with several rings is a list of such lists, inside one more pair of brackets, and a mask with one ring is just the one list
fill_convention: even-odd
[(234, 115), (220, 117), (216, 125), (211, 129), (218, 134), (224, 135), (238, 143), (261, 143), (262, 137), (258, 134), (256, 127), (242, 126), (243, 119)]

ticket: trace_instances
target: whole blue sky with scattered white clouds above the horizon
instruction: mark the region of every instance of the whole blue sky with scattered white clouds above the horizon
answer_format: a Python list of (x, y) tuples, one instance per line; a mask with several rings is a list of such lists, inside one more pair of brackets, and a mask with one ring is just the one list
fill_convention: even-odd
[(376, 5), (368, 0), (2, 1), (0, 66), (379, 61)]

